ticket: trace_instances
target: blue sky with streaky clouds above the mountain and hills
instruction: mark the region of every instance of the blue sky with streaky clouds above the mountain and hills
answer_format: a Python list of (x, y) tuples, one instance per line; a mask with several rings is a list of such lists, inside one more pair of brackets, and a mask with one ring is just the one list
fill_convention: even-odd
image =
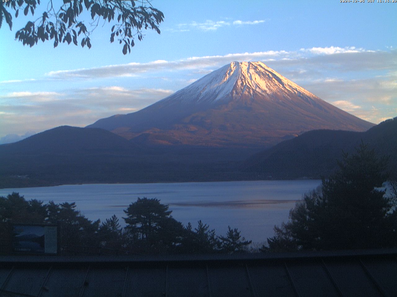
[(395, 2), (152, 0), (161, 34), (146, 30), (127, 55), (103, 21), (91, 49), (23, 46), (15, 32), (41, 3), (0, 29), (0, 143), (137, 111), (232, 61), (262, 61), (372, 123), (397, 116)]

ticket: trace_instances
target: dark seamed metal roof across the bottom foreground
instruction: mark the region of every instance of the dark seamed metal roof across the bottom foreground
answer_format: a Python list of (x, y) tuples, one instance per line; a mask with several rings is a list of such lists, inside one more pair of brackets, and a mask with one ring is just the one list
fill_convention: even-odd
[(397, 249), (1, 256), (0, 296), (397, 296)]

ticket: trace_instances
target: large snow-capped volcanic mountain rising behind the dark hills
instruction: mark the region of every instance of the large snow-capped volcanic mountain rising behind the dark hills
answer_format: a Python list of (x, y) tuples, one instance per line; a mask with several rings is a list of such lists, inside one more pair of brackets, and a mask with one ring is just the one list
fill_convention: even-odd
[(232, 62), (145, 109), (89, 127), (143, 143), (266, 147), (313, 129), (372, 126), (261, 62)]

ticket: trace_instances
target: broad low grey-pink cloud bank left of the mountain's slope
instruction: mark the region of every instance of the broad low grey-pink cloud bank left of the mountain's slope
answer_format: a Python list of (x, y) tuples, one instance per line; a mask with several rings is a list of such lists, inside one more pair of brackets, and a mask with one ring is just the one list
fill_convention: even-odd
[[(100, 118), (142, 109), (172, 93), (168, 89), (127, 89), (121, 86), (67, 89), (62, 93), (8, 93), (0, 97), (0, 136), (9, 134), (9, 131), (21, 135), (32, 127), (35, 131), (42, 131), (60, 125), (87, 126)], [(50, 97), (37, 100), (43, 98), (42, 95)], [(19, 101), (15, 102), (16, 99)], [(4, 141), (9, 140), (7, 137)]]

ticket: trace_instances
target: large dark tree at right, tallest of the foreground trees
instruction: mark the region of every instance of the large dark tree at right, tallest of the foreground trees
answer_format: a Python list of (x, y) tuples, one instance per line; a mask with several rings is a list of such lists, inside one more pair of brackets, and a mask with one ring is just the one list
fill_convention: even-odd
[[(387, 158), (363, 143), (343, 156), (322, 187), (304, 195), (268, 238), (272, 250), (358, 249), (395, 246), (396, 201), (385, 194)], [(393, 227), (394, 226), (394, 227)]]

